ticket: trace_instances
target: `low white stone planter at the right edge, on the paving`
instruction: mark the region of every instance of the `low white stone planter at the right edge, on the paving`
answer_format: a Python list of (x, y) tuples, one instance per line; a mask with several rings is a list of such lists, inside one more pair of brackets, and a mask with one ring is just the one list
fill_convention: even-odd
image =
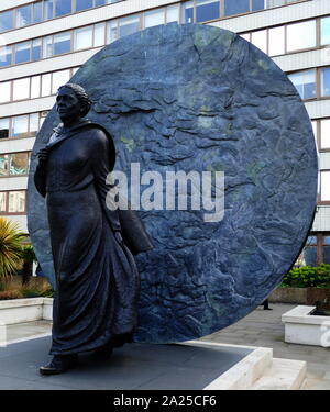
[(299, 305), (282, 315), (285, 342), (330, 347), (330, 316), (312, 315), (315, 310)]

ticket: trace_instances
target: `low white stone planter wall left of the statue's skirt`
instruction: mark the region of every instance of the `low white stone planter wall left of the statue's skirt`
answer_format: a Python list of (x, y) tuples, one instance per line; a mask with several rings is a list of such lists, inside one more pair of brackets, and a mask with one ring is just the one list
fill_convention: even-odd
[(52, 298), (11, 299), (0, 301), (0, 324), (48, 320), (53, 313)]

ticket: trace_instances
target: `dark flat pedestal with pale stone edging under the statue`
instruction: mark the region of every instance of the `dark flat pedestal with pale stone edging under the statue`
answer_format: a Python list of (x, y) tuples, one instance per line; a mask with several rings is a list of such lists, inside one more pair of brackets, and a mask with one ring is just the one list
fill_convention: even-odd
[[(293, 361), (277, 359), (287, 364), (276, 363), (274, 369), (273, 350), (268, 348), (191, 341), (177, 345), (130, 344), (101, 363), (92, 360), (89, 353), (81, 354), (78, 368), (45, 378), (38, 367), (50, 360), (50, 346), (51, 336), (46, 336), (1, 347), (0, 389), (272, 389), (272, 370), (276, 368), (277, 381), (284, 382), (280, 389), (296, 389), (306, 368), (305, 363), (294, 361), (290, 370), (288, 363)], [(267, 388), (263, 388), (263, 376)]]

